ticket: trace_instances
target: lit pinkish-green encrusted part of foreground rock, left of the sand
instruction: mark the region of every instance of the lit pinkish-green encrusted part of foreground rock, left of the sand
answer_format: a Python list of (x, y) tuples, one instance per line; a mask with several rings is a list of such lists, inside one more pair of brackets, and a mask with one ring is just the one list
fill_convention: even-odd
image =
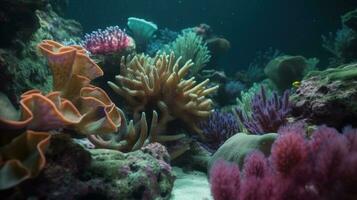
[(93, 157), (89, 169), (91, 177), (98, 177), (104, 187), (115, 191), (120, 199), (169, 199), (175, 177), (170, 165), (165, 160), (167, 151), (148, 152), (147, 148), (127, 154), (115, 150), (90, 150)]

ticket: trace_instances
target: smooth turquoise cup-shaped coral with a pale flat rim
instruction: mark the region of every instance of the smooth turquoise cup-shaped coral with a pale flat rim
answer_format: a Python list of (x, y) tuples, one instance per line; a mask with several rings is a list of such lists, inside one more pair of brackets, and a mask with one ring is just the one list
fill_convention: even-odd
[(127, 23), (133, 34), (135, 42), (140, 45), (146, 45), (150, 38), (157, 31), (157, 25), (136, 17), (129, 17)]

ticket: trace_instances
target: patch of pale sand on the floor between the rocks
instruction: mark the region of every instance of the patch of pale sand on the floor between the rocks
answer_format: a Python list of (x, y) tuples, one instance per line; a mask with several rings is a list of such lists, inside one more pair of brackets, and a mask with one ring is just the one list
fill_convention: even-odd
[(207, 175), (197, 171), (183, 171), (174, 167), (177, 177), (171, 200), (211, 200), (210, 185)]

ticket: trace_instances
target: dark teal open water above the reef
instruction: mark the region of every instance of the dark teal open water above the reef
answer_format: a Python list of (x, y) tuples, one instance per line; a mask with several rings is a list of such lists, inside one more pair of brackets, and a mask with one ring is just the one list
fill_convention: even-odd
[(340, 16), (356, 7), (357, 0), (76, 0), (67, 14), (86, 32), (124, 27), (131, 16), (173, 30), (204, 22), (231, 42), (224, 66), (237, 69), (269, 47), (319, 57), (324, 65), (329, 54), (321, 47), (321, 34), (334, 32)]

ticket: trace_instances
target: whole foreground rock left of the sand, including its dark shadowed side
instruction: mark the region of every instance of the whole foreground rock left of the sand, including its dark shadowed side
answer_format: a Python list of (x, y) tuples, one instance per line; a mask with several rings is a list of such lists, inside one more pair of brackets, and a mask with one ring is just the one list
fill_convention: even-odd
[(66, 135), (51, 138), (47, 163), (36, 179), (1, 191), (9, 199), (169, 199), (175, 176), (165, 147), (86, 149)]

